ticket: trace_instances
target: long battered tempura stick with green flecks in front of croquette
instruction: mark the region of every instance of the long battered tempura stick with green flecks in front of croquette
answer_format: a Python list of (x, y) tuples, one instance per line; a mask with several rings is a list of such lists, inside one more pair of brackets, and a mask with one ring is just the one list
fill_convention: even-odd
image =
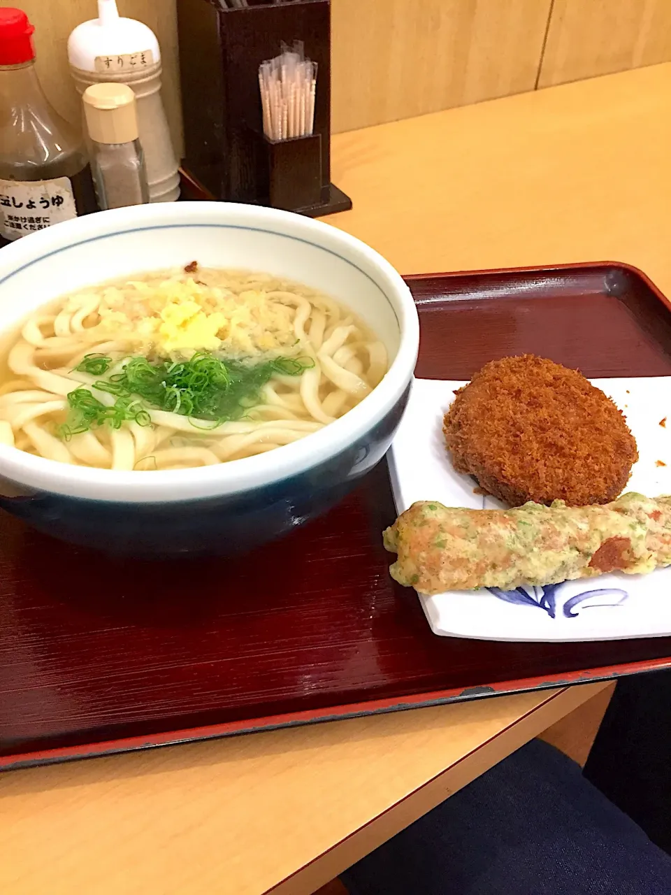
[(422, 500), (384, 533), (398, 554), (391, 575), (420, 593), (561, 584), (604, 572), (636, 575), (671, 565), (671, 497), (623, 494), (607, 506), (511, 510)]

